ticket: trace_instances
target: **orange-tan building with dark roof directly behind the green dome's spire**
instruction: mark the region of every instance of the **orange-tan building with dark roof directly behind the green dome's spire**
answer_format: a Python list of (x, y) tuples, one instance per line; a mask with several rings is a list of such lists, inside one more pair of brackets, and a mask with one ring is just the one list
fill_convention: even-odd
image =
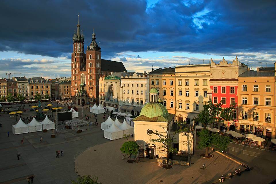
[(175, 94), (175, 68), (159, 68), (149, 73), (149, 90), (156, 88), (159, 98), (170, 114), (175, 114), (175, 95), (171, 96), (170, 92)]

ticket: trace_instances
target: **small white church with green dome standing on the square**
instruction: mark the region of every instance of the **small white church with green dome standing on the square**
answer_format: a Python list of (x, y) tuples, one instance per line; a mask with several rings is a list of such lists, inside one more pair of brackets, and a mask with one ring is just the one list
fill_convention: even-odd
[[(134, 139), (139, 144), (139, 156), (150, 157), (162, 156), (166, 157), (167, 154), (162, 151), (162, 144), (152, 142), (151, 139), (158, 139), (154, 132), (158, 131), (163, 135), (174, 134), (173, 120), (175, 114), (168, 113), (168, 110), (162, 104), (162, 100), (158, 99), (158, 91), (156, 88), (150, 90), (150, 103), (143, 106), (139, 116), (133, 119), (134, 121)], [(180, 133), (175, 135), (173, 147), (177, 148), (180, 152), (193, 154), (194, 134)], [(160, 150), (161, 149), (161, 150)]]

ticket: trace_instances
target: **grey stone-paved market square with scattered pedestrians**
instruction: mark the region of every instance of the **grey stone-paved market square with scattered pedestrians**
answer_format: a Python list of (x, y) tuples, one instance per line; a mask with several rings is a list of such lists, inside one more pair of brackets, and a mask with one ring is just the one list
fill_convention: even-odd
[[(42, 106), (45, 104), (47, 103), (43, 102)], [(28, 107), (26, 104), (25, 109)], [(84, 109), (85, 114), (88, 114), (89, 109), (86, 107)], [(35, 112), (24, 112), (25, 119), (30, 115), (34, 116)], [(81, 113), (79, 116), (81, 118)], [(50, 119), (53, 120), (53, 118)], [(103, 115), (98, 115), (97, 119), (98, 122), (103, 122)], [(95, 121), (95, 118), (91, 116), (90, 120)], [(172, 170), (164, 170), (157, 166), (155, 159), (147, 158), (141, 159), (142, 162), (138, 164), (128, 164), (126, 160), (122, 160), (119, 150), (126, 139), (110, 141), (103, 138), (100, 124), (98, 127), (81, 127), (85, 131), (80, 134), (69, 129), (62, 129), (63, 125), (60, 125), (60, 133), (56, 138), (51, 138), (52, 131), (13, 135), (11, 125), (16, 123), (16, 118), (9, 117), (9, 114), (2, 113), (0, 122), (2, 123), (0, 128), (0, 184), (27, 183), (26, 177), (30, 175), (34, 175), (34, 183), (69, 184), (78, 175), (94, 174), (104, 184), (213, 183), (218, 181), (221, 175), (227, 175), (235, 168), (242, 168), (217, 153), (213, 153), (212, 159), (203, 159), (199, 155), (204, 150), (195, 151), (189, 167), (174, 165)], [(42, 143), (40, 143), (40, 136), (43, 137)], [(23, 145), (20, 142), (22, 138), (25, 139)], [(231, 146), (239, 147), (233, 144)], [(57, 150), (64, 150), (64, 157), (55, 158)], [(243, 173), (241, 177), (228, 179), (226, 183), (268, 183), (275, 179), (275, 152), (256, 151), (261, 152), (263, 158), (233, 151), (227, 152), (235, 159), (254, 166), (254, 169)], [(20, 160), (16, 157), (18, 153), (21, 155)], [(207, 167), (206, 170), (201, 169), (203, 163)]]

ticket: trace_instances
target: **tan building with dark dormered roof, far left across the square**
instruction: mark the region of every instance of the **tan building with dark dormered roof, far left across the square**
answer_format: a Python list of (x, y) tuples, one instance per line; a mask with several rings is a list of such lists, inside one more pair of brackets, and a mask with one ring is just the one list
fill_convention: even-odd
[(42, 77), (28, 78), (29, 99), (34, 99), (36, 93), (41, 95), (41, 99), (49, 96), (51, 98), (51, 83), (48, 79)]

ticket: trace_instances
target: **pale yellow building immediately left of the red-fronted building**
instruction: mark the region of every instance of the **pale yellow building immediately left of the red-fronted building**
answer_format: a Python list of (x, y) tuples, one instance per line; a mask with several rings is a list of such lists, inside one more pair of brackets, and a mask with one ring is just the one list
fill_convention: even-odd
[(175, 96), (176, 120), (193, 124), (195, 118), (208, 101), (210, 92), (210, 64), (184, 65), (175, 67), (175, 94), (173, 90), (168, 95)]

